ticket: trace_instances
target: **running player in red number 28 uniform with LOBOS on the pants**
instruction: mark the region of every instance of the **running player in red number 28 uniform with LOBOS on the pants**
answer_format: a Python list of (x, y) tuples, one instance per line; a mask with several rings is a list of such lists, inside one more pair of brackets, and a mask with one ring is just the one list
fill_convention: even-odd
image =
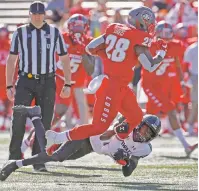
[(111, 24), (105, 34), (91, 41), (86, 50), (91, 55), (104, 56), (105, 75), (94, 78), (88, 91), (95, 93), (96, 102), (92, 124), (75, 127), (69, 131), (46, 132), (47, 147), (54, 143), (81, 140), (105, 132), (119, 111), (127, 119), (116, 126), (112, 154), (118, 145), (140, 123), (143, 117), (136, 96), (128, 87), (133, 76), (133, 67), (139, 60), (144, 68), (154, 71), (166, 54), (166, 44), (159, 43), (155, 57), (149, 52), (155, 29), (155, 15), (148, 7), (139, 7), (129, 12), (128, 24)]

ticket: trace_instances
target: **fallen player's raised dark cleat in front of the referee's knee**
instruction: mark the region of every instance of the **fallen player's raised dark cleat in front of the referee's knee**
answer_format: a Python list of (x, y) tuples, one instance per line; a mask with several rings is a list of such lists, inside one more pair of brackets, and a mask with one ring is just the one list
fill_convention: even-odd
[(24, 106), (24, 105), (16, 105), (13, 108), (13, 111), (20, 112), (22, 115), (27, 115), (29, 118), (33, 117), (41, 117), (41, 108), (40, 106)]

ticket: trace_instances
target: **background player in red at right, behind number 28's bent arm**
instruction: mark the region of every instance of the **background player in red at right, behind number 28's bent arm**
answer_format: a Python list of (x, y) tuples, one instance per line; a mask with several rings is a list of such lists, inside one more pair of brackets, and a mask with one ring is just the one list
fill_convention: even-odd
[[(142, 86), (148, 96), (146, 105), (147, 113), (168, 114), (169, 121), (174, 134), (179, 138), (188, 155), (197, 147), (197, 144), (190, 146), (185, 140), (180, 124), (176, 117), (176, 105), (180, 95), (183, 94), (179, 76), (183, 78), (180, 58), (183, 48), (180, 42), (172, 41), (172, 26), (165, 21), (160, 21), (156, 26), (156, 37), (167, 40), (168, 50), (161, 65), (155, 72), (149, 73), (145, 69), (142, 71)], [(156, 42), (152, 45), (152, 52), (156, 52)]]

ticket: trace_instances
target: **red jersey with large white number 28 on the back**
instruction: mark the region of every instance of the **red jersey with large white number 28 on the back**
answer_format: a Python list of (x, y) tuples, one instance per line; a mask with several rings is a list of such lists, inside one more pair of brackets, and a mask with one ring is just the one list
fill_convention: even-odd
[(105, 32), (104, 73), (128, 84), (133, 77), (133, 67), (138, 63), (134, 46), (150, 47), (151, 42), (146, 32), (124, 24), (110, 24)]

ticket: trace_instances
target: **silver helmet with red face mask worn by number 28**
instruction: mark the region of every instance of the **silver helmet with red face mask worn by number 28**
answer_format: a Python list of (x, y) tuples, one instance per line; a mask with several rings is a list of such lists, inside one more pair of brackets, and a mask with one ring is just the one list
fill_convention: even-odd
[(128, 23), (136, 29), (148, 32), (150, 35), (155, 34), (155, 14), (145, 6), (131, 9), (128, 14)]

